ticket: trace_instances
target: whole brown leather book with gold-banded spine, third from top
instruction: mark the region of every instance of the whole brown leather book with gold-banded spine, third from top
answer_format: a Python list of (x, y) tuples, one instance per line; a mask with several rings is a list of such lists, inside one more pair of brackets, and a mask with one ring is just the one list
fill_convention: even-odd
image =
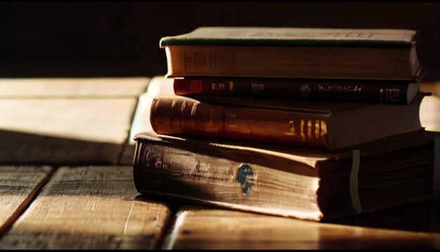
[(150, 122), (157, 134), (194, 135), (269, 144), (342, 149), (420, 130), (425, 96), (408, 105), (337, 103), (227, 96), (160, 95)]

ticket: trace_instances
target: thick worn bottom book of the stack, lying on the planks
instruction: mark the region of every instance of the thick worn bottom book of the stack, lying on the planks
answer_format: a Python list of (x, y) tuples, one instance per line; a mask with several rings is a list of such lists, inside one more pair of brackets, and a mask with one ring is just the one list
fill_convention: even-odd
[(191, 203), (330, 220), (440, 191), (440, 137), (424, 130), (338, 152), (147, 132), (135, 140), (136, 189)]

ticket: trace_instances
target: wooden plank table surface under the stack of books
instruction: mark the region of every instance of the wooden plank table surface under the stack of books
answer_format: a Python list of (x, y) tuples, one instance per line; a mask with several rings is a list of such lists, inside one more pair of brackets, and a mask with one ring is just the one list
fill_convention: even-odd
[(313, 222), (139, 194), (131, 139), (160, 79), (0, 80), (0, 248), (440, 248), (439, 201)]

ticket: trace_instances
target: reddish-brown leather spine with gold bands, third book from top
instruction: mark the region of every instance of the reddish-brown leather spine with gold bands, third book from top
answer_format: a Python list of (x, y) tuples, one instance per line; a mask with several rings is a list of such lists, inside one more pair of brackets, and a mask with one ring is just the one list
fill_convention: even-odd
[(184, 96), (153, 99), (157, 134), (187, 134), (330, 149), (328, 115), (265, 108), (214, 106)]

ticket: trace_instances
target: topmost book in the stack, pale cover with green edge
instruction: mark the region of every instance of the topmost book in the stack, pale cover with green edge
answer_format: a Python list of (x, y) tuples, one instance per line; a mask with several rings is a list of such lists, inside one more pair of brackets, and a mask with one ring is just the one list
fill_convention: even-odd
[(415, 30), (200, 27), (162, 37), (167, 77), (416, 80)]

